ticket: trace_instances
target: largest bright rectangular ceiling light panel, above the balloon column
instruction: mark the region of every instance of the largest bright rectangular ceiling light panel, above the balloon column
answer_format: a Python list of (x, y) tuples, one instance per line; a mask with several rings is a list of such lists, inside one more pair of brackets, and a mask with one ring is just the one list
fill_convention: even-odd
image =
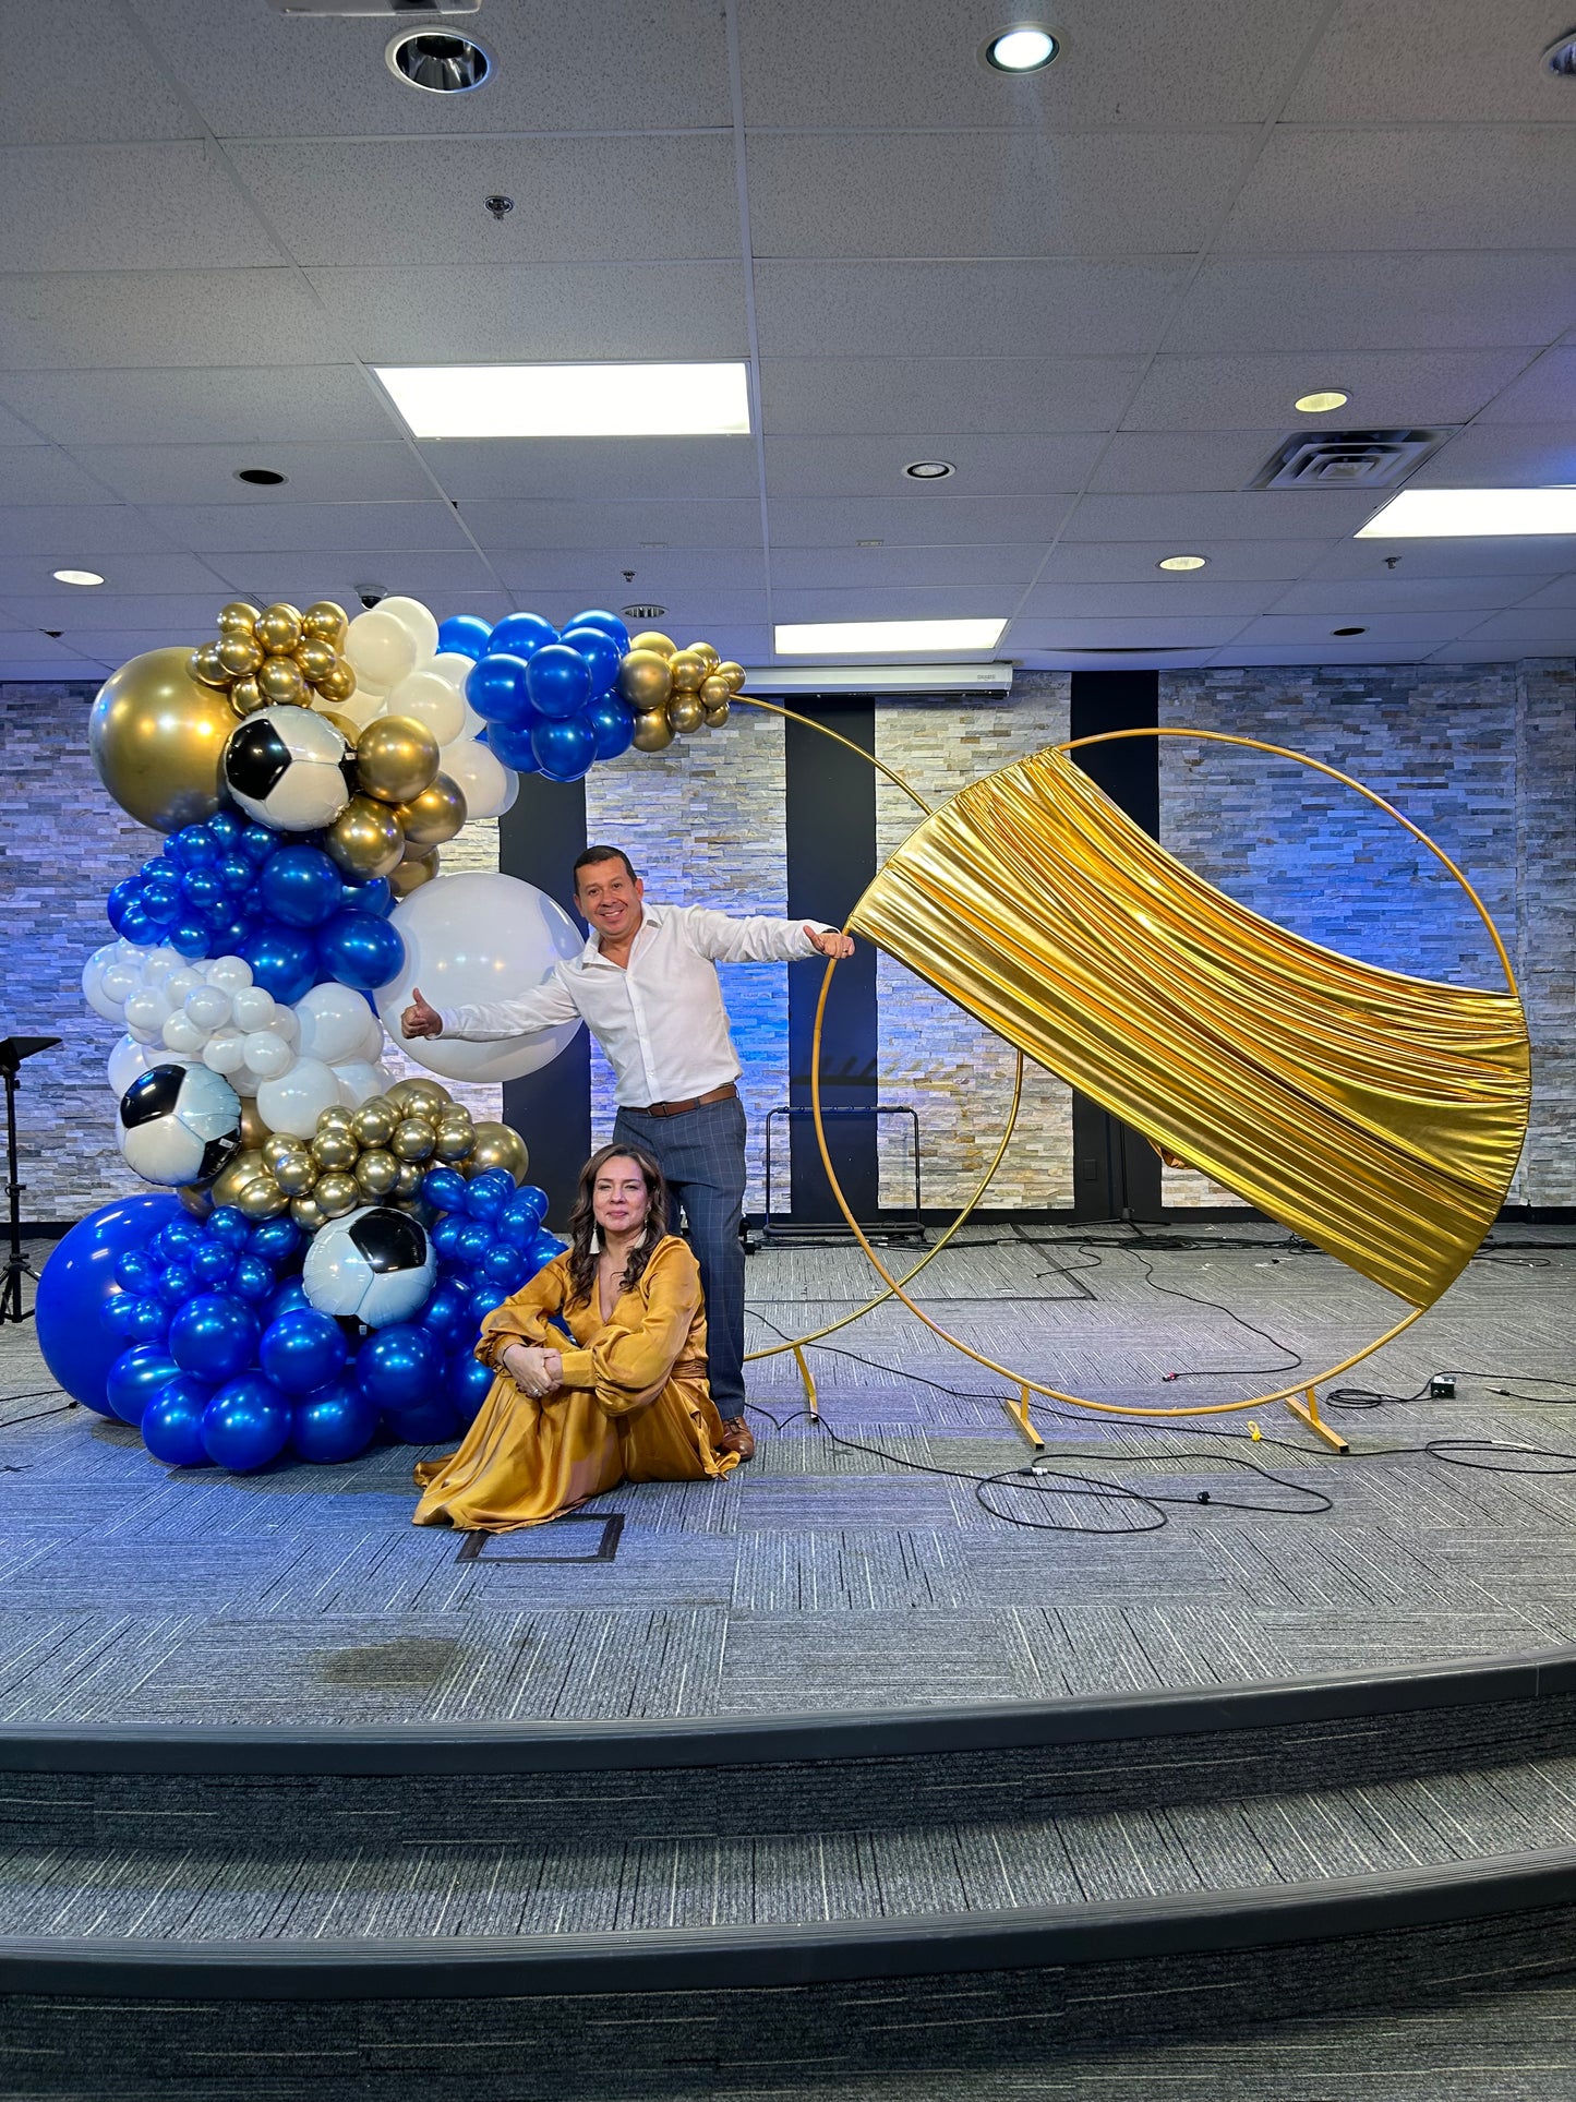
[(374, 366), (416, 437), (748, 437), (742, 364)]

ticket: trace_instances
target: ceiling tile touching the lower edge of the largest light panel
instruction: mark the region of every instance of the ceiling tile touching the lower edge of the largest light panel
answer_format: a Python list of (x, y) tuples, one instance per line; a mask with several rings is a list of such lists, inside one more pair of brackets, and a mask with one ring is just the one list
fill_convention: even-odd
[(759, 502), (752, 437), (445, 437), (420, 446), (445, 496)]

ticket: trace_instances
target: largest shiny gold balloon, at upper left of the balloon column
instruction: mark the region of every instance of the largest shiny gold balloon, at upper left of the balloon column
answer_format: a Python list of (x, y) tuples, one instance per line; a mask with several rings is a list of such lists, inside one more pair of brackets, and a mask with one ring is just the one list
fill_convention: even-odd
[(189, 647), (147, 650), (105, 679), (88, 717), (99, 780), (155, 832), (202, 824), (223, 801), (219, 763), (235, 710), (189, 664)]

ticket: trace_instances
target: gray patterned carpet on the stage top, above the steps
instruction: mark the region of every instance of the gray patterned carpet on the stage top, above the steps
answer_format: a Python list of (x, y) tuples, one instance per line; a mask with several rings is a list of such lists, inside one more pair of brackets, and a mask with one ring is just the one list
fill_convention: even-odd
[[(1034, 1236), (973, 1232), (927, 1270), (927, 1310), (1011, 1366), (1120, 1406), (1252, 1396), (1292, 1377), (1280, 1371), (1292, 1356), (1322, 1368), (1393, 1318), (1383, 1293), (1273, 1230), (1252, 1246), (1206, 1234), (1202, 1249), (1164, 1234), (1122, 1244), (1120, 1228)], [(811, 1427), (792, 1358), (763, 1360), (756, 1461), (725, 1484), (603, 1499), (626, 1520), (611, 1562), (582, 1560), (599, 1537), (586, 1524), (460, 1560), (460, 1539), (410, 1526), (410, 1446), (345, 1467), (172, 1474), (134, 1431), (61, 1410), (32, 1328), (4, 1328), (0, 1717), (880, 1709), (1576, 1642), (1576, 1457), (1456, 1452), (1513, 1469), (1500, 1474), (1423, 1450), (1439, 1438), (1576, 1450), (1576, 1421), (1549, 1406), (1576, 1385), (1528, 1385), (1576, 1379), (1576, 1246), (1532, 1244), (1557, 1238), (1500, 1230), (1435, 1312), (1353, 1375), (1412, 1394), (1450, 1366), (1458, 1400), (1343, 1415), (1345, 1459), (1311, 1448), (1278, 1406), (1147, 1427), (1044, 1408), (1082, 1492), (1013, 1478), (1030, 1455), (1002, 1415), (1004, 1383), (885, 1307), (811, 1360), (826, 1425), (874, 1452)], [(752, 1341), (832, 1318), (866, 1282), (857, 1251), (759, 1253)], [(973, 1478), (996, 1471), (1009, 1480), (986, 1490), (992, 1513)], [(1330, 1509), (1313, 1509), (1324, 1497)], [(1162, 1513), (1160, 1530), (1139, 1530)]]

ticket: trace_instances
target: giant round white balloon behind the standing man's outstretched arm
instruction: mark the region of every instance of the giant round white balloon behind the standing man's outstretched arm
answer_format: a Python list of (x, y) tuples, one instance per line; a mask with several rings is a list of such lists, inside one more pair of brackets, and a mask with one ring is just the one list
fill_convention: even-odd
[[(406, 940), (406, 967), (378, 992), (378, 1013), (395, 1045), (418, 1066), (445, 1080), (519, 1080), (574, 1040), (578, 1022), (490, 1045), (458, 1036), (406, 1043), (399, 1032), (412, 986), (420, 986), (433, 1007), (517, 1001), (544, 984), (559, 959), (580, 954), (586, 944), (578, 927), (534, 883), (481, 870), (435, 877), (395, 906), (393, 925)], [(267, 1112), (263, 1120), (279, 1129)]]

